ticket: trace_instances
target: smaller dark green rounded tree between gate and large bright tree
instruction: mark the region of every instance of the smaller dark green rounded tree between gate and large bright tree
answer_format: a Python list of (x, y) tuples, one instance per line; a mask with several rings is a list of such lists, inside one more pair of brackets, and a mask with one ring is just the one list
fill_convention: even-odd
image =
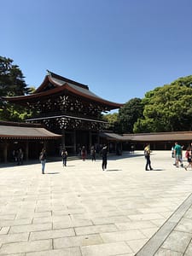
[(120, 133), (132, 133), (138, 118), (143, 117), (143, 102), (140, 98), (133, 98), (119, 109), (118, 123)]

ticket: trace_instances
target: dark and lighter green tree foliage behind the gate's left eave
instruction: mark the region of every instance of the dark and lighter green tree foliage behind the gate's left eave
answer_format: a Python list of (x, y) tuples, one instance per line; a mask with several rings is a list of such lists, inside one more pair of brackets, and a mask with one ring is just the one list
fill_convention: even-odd
[[(24, 80), (23, 73), (13, 60), (0, 56), (0, 96), (24, 96), (31, 92)], [(31, 115), (20, 106), (13, 106), (9, 102), (0, 100), (0, 119), (9, 121), (23, 121)]]

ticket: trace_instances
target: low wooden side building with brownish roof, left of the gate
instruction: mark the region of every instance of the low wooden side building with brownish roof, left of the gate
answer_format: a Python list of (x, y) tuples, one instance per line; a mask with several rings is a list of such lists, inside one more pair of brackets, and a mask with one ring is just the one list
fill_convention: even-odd
[(24, 160), (38, 159), (42, 148), (52, 154), (55, 140), (61, 135), (47, 131), (42, 125), (0, 121), (0, 162), (14, 161), (14, 153), (21, 149)]

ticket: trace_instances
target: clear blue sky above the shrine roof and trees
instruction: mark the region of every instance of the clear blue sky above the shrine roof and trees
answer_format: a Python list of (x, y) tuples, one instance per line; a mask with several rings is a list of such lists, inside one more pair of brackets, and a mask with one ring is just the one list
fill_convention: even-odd
[(191, 0), (2, 0), (0, 55), (29, 86), (49, 69), (124, 103), (192, 75), (191, 14)]

